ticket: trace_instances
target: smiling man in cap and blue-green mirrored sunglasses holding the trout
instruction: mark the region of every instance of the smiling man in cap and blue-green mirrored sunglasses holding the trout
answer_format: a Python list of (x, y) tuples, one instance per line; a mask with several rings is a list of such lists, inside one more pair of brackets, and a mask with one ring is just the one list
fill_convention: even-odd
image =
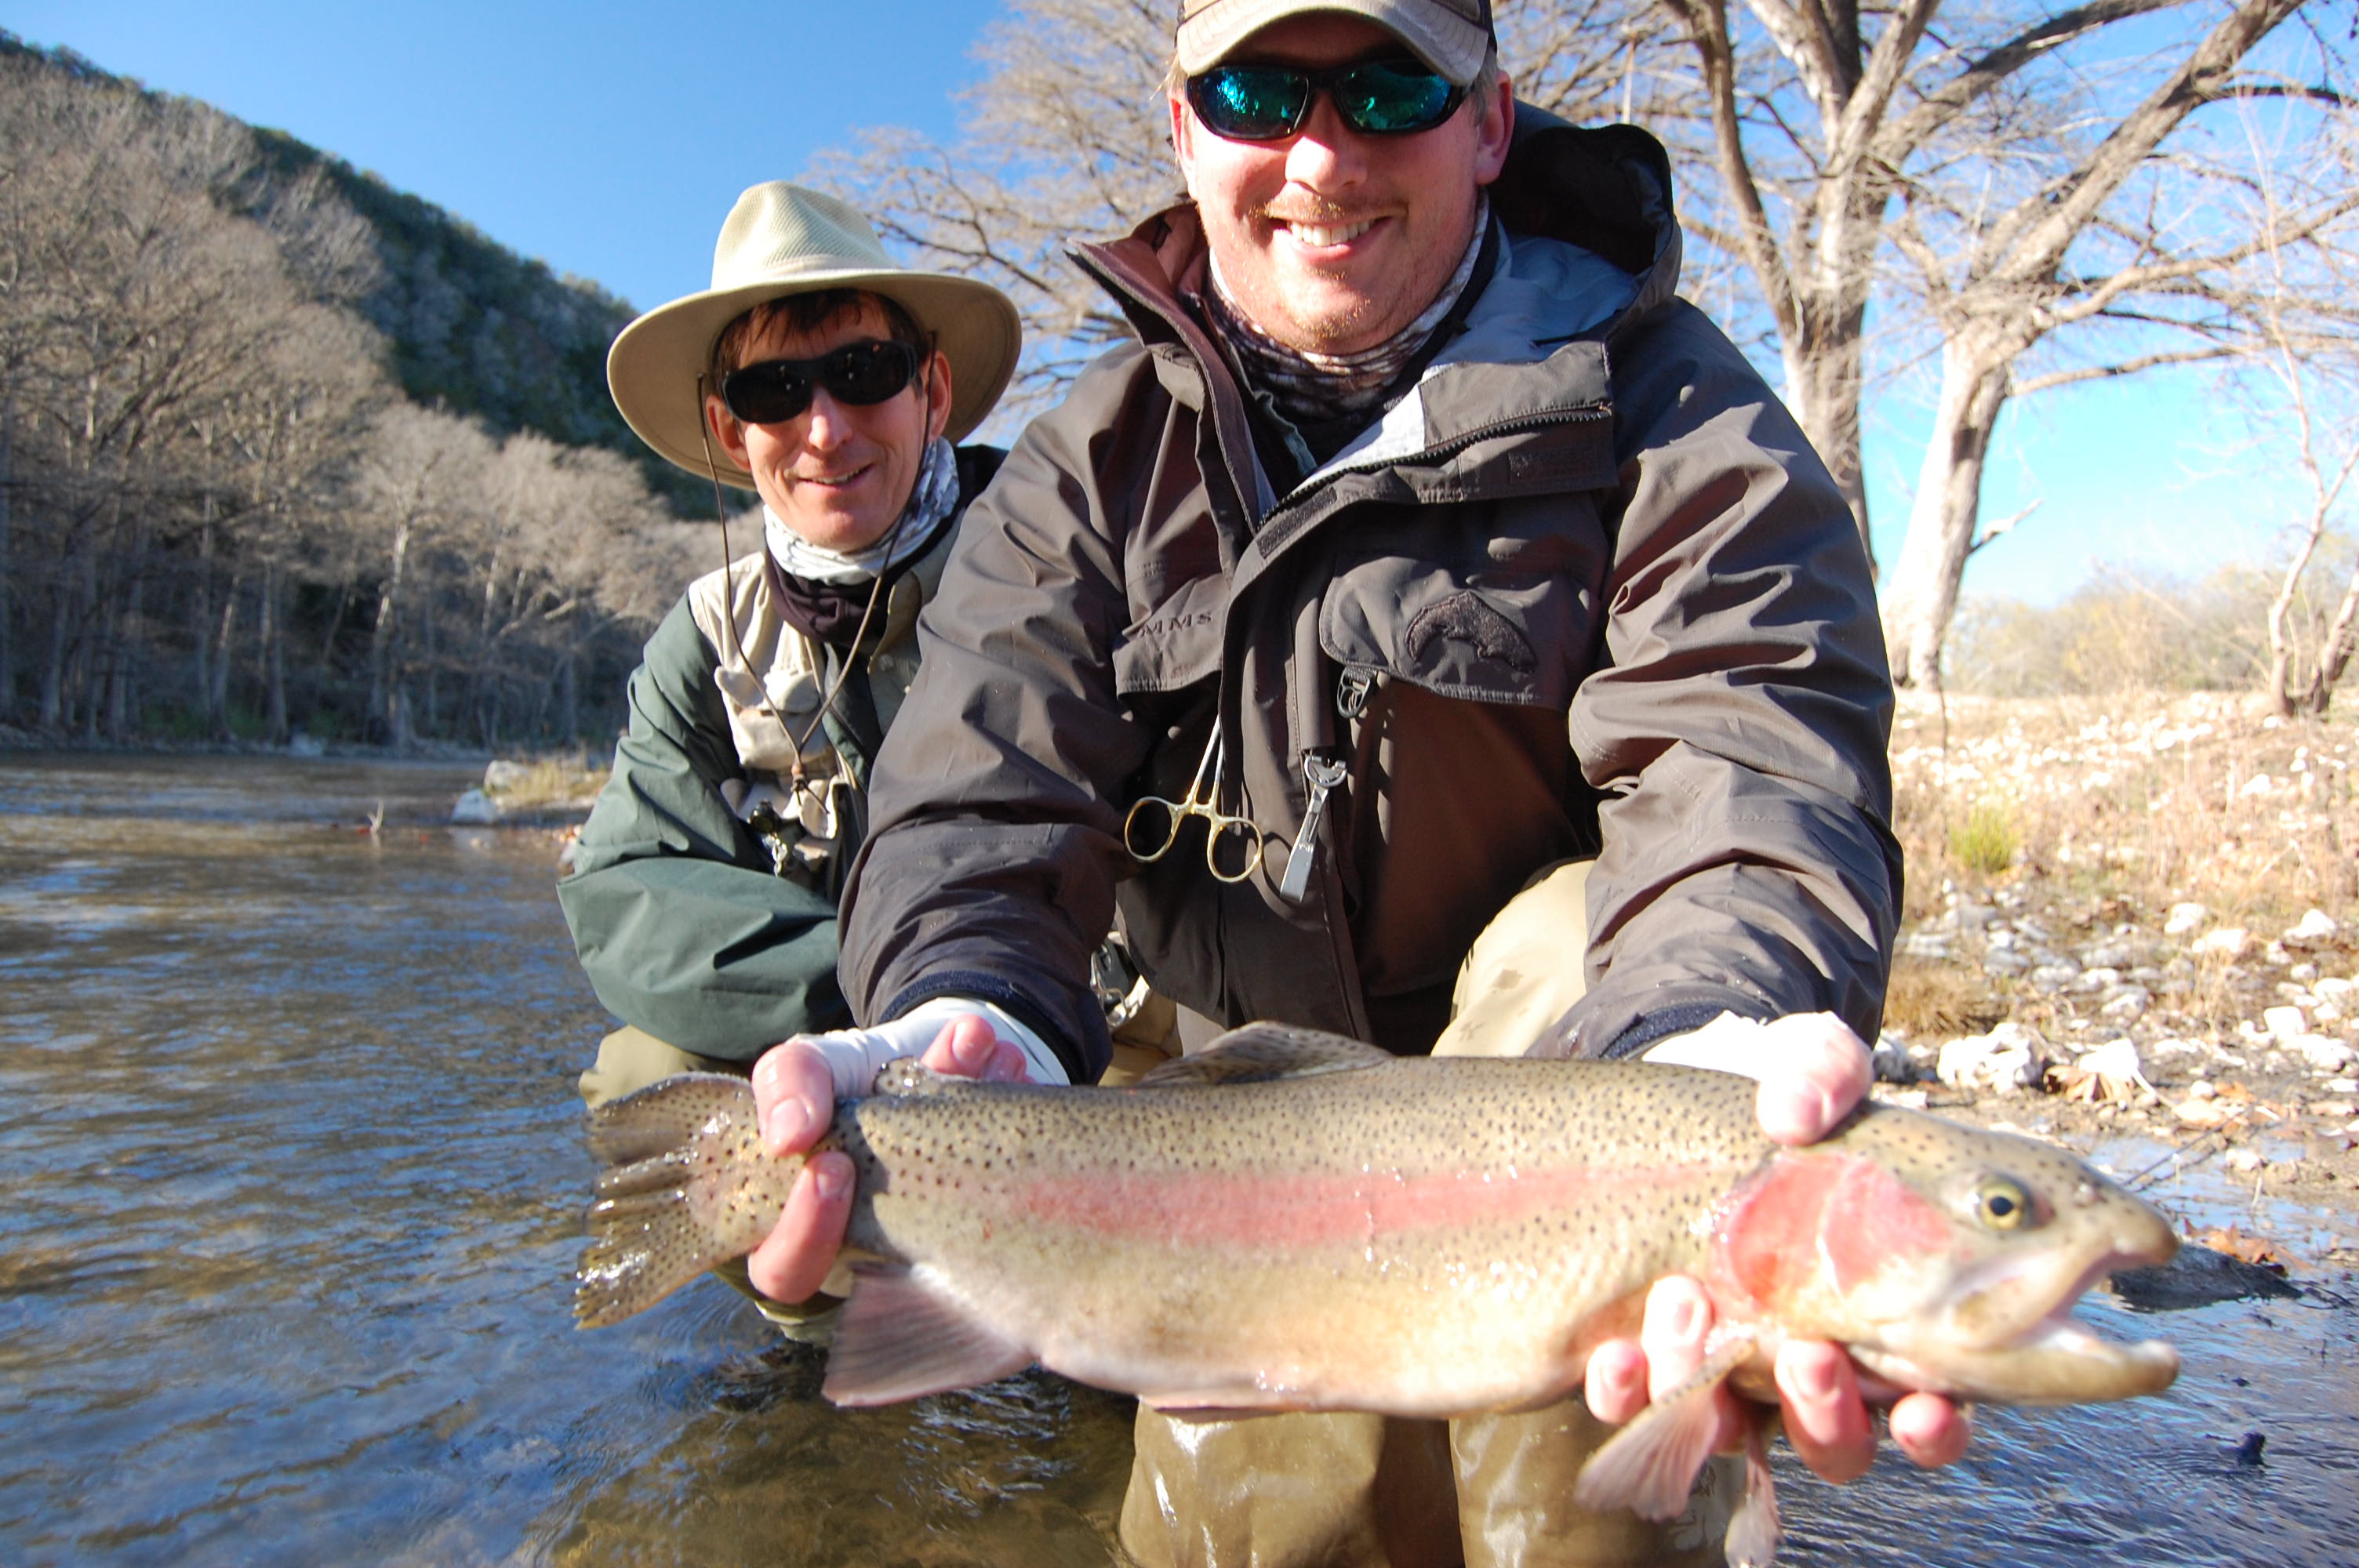
[[(972, 1007), (937, 1049), (1090, 1080), (1113, 920), (1189, 1047), (1274, 1019), (1675, 1056), (1821, 1137), (1866, 1092), (1899, 917), (1892, 691), (1842, 495), (1675, 295), (1663, 149), (1517, 111), (1489, 0), (1182, 0), (1168, 97), (1189, 200), (1073, 252), (1137, 342), (1031, 424), (953, 549), (847, 894), (873, 1028), (826, 1047)], [(1262, 854), (1142, 861), (1142, 799)], [(821, 1042), (767, 1054), (771, 1146), (807, 1148), (835, 1092)], [(811, 1160), (753, 1278), (816, 1285), (847, 1203)], [(1595, 1417), (1675, 1389), (1710, 1316), (1656, 1285), (1585, 1408), (1142, 1412), (1123, 1542), (1149, 1568), (1720, 1561), (1727, 1471), (1663, 1526), (1571, 1504)], [(1776, 1375), (1800, 1455), (1866, 1469), (1845, 1356), (1790, 1344)], [(1965, 1445), (1932, 1396), (1890, 1429), (1923, 1464)]]

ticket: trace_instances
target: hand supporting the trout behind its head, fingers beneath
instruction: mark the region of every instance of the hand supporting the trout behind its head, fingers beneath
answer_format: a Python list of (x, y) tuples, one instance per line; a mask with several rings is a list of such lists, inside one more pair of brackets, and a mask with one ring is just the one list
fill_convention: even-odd
[[(1760, 1082), (1755, 1115), (1779, 1144), (1816, 1144), (1852, 1113), (1875, 1080), (1868, 1047), (1833, 1014), (1795, 1014), (1755, 1023), (1722, 1014), (1687, 1035), (1675, 1035), (1644, 1056), (1661, 1066), (1715, 1068)], [(1684, 1386), (1706, 1361), (1713, 1332), (1706, 1290), (1670, 1276), (1647, 1294), (1647, 1318), (1637, 1339), (1609, 1339), (1590, 1353), (1583, 1396), (1606, 1422), (1625, 1424), (1649, 1401)], [(1790, 1339), (1776, 1356), (1779, 1403), (1786, 1441), (1826, 1481), (1854, 1481), (1875, 1460), (1875, 1424), (1859, 1394), (1852, 1358), (1824, 1339)], [(1743, 1441), (1746, 1422), (1736, 1396), (1713, 1391), (1713, 1448)], [(1906, 1394), (1890, 1415), (1892, 1441), (1925, 1469), (1965, 1457), (1972, 1424), (1939, 1394)]]

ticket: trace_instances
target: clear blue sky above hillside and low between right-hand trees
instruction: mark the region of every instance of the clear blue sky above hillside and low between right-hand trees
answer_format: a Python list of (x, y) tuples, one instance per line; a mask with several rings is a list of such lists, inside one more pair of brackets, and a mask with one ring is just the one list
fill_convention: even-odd
[[(17, 0), (0, 26), (302, 137), (644, 309), (705, 283), (748, 184), (868, 125), (951, 134), (993, 14), (979, 0)], [(1901, 387), (1871, 408), (1887, 564), (1930, 396)], [(2201, 573), (2272, 549), (2272, 507), (2288, 502), (2260, 479), (2267, 462), (2225, 448), (2217, 406), (2189, 373), (2015, 408), (1984, 516), (2041, 509), (1974, 559), (1967, 592), (2048, 601), (2092, 564)]]

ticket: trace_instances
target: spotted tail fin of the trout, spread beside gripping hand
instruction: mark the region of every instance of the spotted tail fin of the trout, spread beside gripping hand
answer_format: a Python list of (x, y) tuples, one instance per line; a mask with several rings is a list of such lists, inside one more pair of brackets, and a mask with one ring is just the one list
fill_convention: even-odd
[(802, 1170), (762, 1148), (753, 1089), (724, 1073), (682, 1073), (599, 1106), (590, 1148), (606, 1170), (573, 1271), (578, 1327), (620, 1323), (750, 1252)]

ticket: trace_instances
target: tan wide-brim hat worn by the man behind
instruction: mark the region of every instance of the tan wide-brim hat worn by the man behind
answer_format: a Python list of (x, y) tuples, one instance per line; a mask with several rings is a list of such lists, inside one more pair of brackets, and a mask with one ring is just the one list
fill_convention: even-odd
[(1014, 302), (977, 278), (901, 266), (849, 203), (783, 179), (757, 184), (729, 210), (712, 248), (712, 288), (658, 304), (623, 328), (606, 351), (606, 387), (639, 439), (703, 479), (753, 488), (753, 474), (712, 446), (705, 465), (696, 377), (712, 342), (757, 304), (828, 288), (885, 295), (934, 335), (951, 361), (951, 420), (962, 439), (1000, 401), (1017, 370), (1024, 325)]

